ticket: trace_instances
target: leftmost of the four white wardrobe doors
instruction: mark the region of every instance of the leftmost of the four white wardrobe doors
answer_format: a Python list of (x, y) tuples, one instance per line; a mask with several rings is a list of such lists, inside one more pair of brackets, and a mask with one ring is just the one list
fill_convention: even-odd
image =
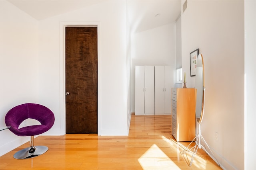
[(135, 66), (135, 114), (145, 114), (145, 66)]

